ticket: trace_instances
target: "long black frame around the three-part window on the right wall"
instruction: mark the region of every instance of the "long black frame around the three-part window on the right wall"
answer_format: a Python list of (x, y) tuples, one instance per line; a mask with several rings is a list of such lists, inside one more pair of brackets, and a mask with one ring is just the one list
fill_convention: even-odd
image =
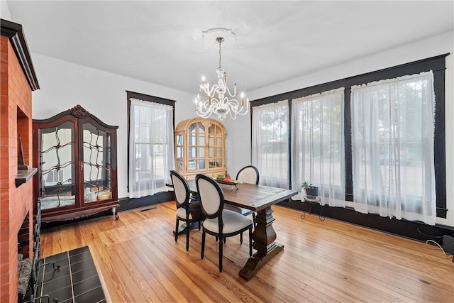
[[(392, 79), (405, 75), (415, 75), (421, 72), (433, 72), (433, 88), (436, 96), (435, 113), (435, 137), (434, 137), (434, 162), (436, 180), (436, 214), (437, 217), (446, 218), (448, 209), (446, 208), (446, 153), (445, 153), (445, 57), (449, 53), (428, 57), (414, 62), (384, 68), (374, 72), (338, 79), (332, 82), (317, 84), (312, 87), (297, 89), (292, 92), (285, 92), (262, 99), (250, 101), (250, 121), (252, 128), (252, 116), (255, 106), (287, 100), (289, 106), (289, 117), (292, 116), (292, 100), (307, 97), (311, 94), (319, 94), (331, 89), (344, 87), (344, 136), (345, 136), (345, 201), (353, 201), (353, 171), (352, 171), (352, 149), (351, 149), (351, 116), (350, 116), (350, 97), (351, 87), (354, 85), (366, 84), (369, 82), (380, 81), (382, 79)], [(292, 188), (292, 123), (289, 123), (289, 188)], [(252, 138), (252, 133), (251, 133)], [(252, 139), (251, 139), (252, 149)]]

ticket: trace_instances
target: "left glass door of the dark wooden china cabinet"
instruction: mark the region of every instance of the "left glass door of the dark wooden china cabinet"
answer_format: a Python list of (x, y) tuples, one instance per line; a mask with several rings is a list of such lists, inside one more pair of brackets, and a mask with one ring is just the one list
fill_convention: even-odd
[(74, 175), (74, 122), (40, 128), (38, 133), (38, 180), (41, 209), (74, 206), (77, 189)]

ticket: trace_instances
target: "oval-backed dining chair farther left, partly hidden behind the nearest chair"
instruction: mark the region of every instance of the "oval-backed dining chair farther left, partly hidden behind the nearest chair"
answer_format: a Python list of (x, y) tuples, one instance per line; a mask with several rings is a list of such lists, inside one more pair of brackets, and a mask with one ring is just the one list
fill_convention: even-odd
[(179, 221), (186, 223), (186, 250), (189, 250), (189, 229), (192, 222), (200, 222), (204, 220), (201, 211), (200, 201), (194, 200), (189, 192), (189, 185), (182, 175), (175, 170), (170, 170), (170, 178), (172, 179), (173, 188), (175, 191), (175, 204), (177, 204), (177, 221), (175, 224), (175, 242), (178, 241)]

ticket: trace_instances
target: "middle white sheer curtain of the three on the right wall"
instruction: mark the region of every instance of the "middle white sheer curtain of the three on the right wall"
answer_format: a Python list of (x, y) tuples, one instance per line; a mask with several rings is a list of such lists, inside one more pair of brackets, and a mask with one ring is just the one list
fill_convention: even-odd
[(292, 188), (319, 187), (321, 202), (345, 206), (344, 89), (292, 100)]

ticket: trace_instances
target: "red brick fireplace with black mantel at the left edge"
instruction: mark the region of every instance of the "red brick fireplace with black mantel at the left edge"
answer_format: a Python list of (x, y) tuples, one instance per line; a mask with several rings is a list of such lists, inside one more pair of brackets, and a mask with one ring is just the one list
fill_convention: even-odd
[[(32, 91), (38, 89), (22, 26), (1, 19), (0, 302), (17, 302), (18, 249), (33, 257)], [(25, 229), (25, 231), (24, 231)], [(21, 248), (18, 248), (21, 243)]]

